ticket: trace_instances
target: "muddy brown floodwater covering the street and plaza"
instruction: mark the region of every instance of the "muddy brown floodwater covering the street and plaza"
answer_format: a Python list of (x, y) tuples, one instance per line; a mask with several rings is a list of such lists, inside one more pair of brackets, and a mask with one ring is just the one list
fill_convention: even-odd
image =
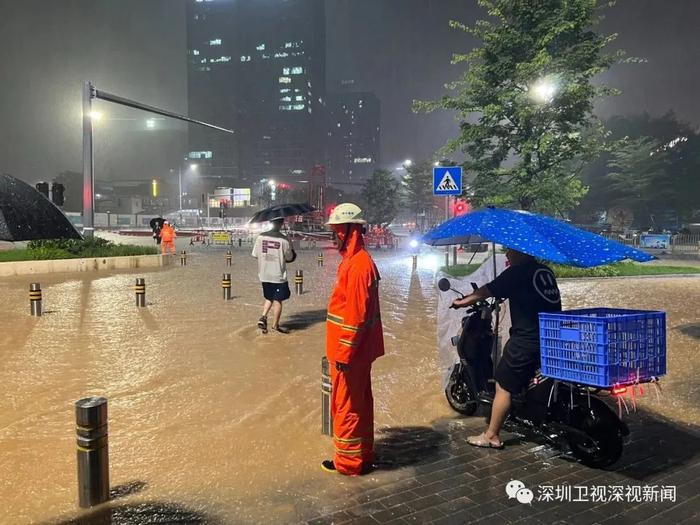
[[(183, 247), (178, 247), (182, 249)], [(186, 248), (186, 247), (185, 247)], [(332, 446), (320, 435), (325, 305), (339, 257), (302, 252), (305, 293), (285, 305), (289, 335), (258, 334), (261, 290), (249, 247), (196, 247), (188, 264), (114, 273), (0, 280), (0, 522), (51, 523), (74, 515), (73, 402), (109, 399), (112, 486), (144, 487), (223, 522), (288, 523), (328, 504), (353, 480), (324, 475)], [(441, 257), (377, 254), (387, 355), (374, 367), (377, 427), (430, 426), (453, 417), (435, 351), (435, 270)], [(231, 301), (222, 273), (232, 273)], [(147, 308), (133, 283), (145, 277)], [(29, 315), (40, 281), (45, 315)], [(607, 305), (668, 312), (669, 376), (649, 410), (700, 423), (700, 279), (562, 283), (566, 307)], [(382, 475), (381, 473), (379, 475)], [(325, 499), (324, 499), (325, 498)], [(130, 500), (131, 501), (131, 500)]]

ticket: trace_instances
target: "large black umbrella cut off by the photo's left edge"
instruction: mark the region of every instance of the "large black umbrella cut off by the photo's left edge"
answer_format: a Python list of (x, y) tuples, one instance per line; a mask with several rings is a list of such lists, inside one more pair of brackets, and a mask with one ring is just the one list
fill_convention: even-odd
[(80, 239), (49, 199), (11, 175), (0, 176), (0, 240)]

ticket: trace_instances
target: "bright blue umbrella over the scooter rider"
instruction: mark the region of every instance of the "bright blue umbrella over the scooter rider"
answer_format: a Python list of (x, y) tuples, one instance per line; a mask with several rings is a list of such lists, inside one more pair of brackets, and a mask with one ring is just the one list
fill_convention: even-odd
[(468, 235), (559, 264), (589, 268), (623, 259), (645, 262), (653, 256), (641, 250), (575, 228), (545, 215), (484, 208), (455, 217), (423, 236), (433, 246), (460, 244)]

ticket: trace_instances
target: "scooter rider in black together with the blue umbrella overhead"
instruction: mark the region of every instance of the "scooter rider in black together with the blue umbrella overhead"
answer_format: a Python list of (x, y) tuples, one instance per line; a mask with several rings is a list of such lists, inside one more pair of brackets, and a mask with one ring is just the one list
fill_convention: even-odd
[(445, 221), (422, 241), (449, 246), (469, 242), (473, 235), (507, 247), (510, 262), (510, 267), (498, 277), (494, 275), (489, 284), (453, 302), (454, 307), (463, 308), (489, 297), (510, 300), (512, 327), (496, 369), (491, 422), (485, 432), (468, 438), (474, 446), (502, 448), (498, 434), (511, 396), (528, 385), (540, 364), (538, 314), (561, 311), (554, 273), (538, 261), (589, 268), (624, 259), (646, 262), (654, 257), (546, 215), (493, 206)]

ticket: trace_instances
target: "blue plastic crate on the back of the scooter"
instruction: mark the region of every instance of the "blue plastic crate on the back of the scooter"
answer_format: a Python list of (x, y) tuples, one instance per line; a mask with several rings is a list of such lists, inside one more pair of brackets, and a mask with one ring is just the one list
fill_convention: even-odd
[(587, 308), (540, 314), (542, 375), (611, 388), (666, 374), (666, 313)]

